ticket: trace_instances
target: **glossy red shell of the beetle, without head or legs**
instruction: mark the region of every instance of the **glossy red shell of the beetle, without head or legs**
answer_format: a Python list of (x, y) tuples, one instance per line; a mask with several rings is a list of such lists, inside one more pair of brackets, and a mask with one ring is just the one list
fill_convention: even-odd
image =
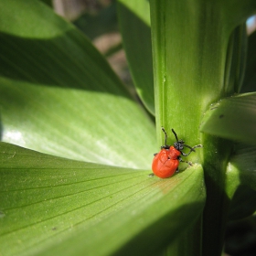
[(169, 149), (161, 149), (161, 151), (155, 155), (152, 162), (152, 170), (155, 176), (166, 178), (173, 176), (179, 165), (178, 156), (180, 152), (176, 150), (174, 146)]

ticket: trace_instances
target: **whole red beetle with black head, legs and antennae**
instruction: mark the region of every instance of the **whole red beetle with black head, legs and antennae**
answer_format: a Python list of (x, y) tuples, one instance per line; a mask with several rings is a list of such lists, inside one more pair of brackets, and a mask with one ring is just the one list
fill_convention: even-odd
[[(202, 147), (201, 144), (197, 144), (193, 147), (184, 144), (183, 140), (178, 140), (176, 132), (172, 129), (172, 132), (176, 136), (176, 143), (172, 146), (167, 145), (167, 133), (165, 132), (164, 127), (162, 127), (163, 132), (165, 133), (165, 145), (161, 146), (161, 151), (155, 154), (155, 157), (152, 162), (152, 170), (155, 176), (159, 176), (162, 178), (173, 176), (176, 171), (178, 171), (179, 162), (186, 162), (188, 165), (192, 165), (191, 163), (182, 160), (180, 155), (187, 156), (192, 151), (195, 152), (195, 148)], [(186, 154), (182, 152), (184, 147), (190, 148), (190, 151)]]

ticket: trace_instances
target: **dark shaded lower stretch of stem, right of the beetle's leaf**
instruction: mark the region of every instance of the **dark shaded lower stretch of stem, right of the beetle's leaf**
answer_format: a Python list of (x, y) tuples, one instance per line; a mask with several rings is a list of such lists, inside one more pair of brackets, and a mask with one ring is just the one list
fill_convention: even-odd
[(225, 182), (232, 144), (210, 135), (205, 135), (204, 141), (208, 150), (204, 151), (207, 201), (204, 209), (202, 255), (221, 255), (230, 204)]

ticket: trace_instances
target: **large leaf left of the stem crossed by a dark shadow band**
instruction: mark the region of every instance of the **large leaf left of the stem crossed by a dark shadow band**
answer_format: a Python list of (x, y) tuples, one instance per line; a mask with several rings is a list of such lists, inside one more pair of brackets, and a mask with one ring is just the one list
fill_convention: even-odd
[(38, 1), (4, 0), (0, 30), (3, 141), (77, 160), (150, 167), (154, 123), (75, 27)]

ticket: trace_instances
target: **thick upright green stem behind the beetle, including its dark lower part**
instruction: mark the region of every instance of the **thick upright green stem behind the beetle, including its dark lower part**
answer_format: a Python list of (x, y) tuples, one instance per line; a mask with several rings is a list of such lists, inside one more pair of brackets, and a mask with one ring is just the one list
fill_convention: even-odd
[[(201, 138), (204, 148), (197, 149), (201, 157), (191, 154), (187, 158), (204, 162), (208, 197), (203, 229), (197, 228), (203, 234), (202, 255), (208, 256), (221, 253), (229, 208), (225, 175), (231, 144), (218, 137), (200, 136), (198, 131), (209, 105), (234, 92), (233, 83), (225, 83), (233, 27), (224, 26), (223, 8), (214, 1), (151, 1), (158, 143), (163, 144), (161, 126), (166, 131), (174, 128), (187, 144), (198, 144)], [(201, 234), (195, 237), (187, 232), (187, 239), (196, 244), (197, 255), (201, 255), (197, 243)]]

